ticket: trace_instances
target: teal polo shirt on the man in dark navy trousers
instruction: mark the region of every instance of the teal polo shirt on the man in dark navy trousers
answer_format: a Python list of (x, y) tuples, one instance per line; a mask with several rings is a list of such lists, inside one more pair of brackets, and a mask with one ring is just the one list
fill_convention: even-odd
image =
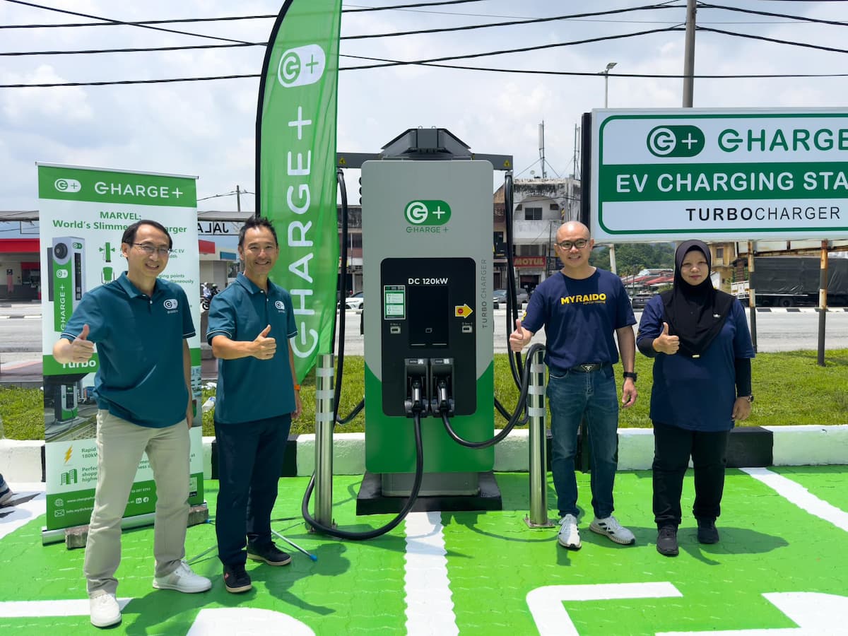
[(282, 416), (294, 410), (294, 381), (288, 360), (288, 338), (298, 335), (294, 323), (292, 296), (268, 281), (268, 293), (247, 276), (239, 274), (209, 304), (206, 341), (215, 336), (249, 342), (271, 325), (268, 338), (276, 338), (276, 354), (271, 360), (253, 356), (218, 360), (218, 388), (215, 396), (215, 422), (238, 424)]

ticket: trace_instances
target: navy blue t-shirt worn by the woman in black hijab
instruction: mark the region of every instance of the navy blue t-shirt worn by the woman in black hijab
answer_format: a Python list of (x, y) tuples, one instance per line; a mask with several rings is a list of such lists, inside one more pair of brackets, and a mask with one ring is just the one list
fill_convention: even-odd
[[(657, 294), (644, 307), (637, 341), (662, 332), (662, 298)], [(736, 358), (753, 358), (748, 321), (734, 301), (722, 331), (699, 358), (656, 354), (650, 393), (650, 419), (691, 431), (729, 431), (736, 400)]]

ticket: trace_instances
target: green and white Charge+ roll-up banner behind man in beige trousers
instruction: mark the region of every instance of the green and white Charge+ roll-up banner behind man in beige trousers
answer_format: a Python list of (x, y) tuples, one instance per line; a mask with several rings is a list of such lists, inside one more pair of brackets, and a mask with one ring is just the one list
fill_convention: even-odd
[[(197, 334), (192, 352), (195, 406), (200, 382), (200, 307), (197, 183), (193, 176), (124, 172), (70, 165), (38, 165), (41, 226), (42, 353), (44, 361), (44, 440), (47, 490), (45, 543), (61, 541), (63, 529), (86, 525), (98, 477), (98, 405), (93, 395), (97, 346), (85, 363), (60, 364), (53, 343), (82, 295), (126, 271), (120, 238), (137, 220), (157, 220), (168, 228), (174, 251), (162, 278), (186, 291)], [(195, 409), (197, 414), (197, 409)], [(194, 420), (189, 502), (203, 503), (202, 421)], [(152, 514), (156, 504), (153, 471), (142, 456), (125, 517)]]

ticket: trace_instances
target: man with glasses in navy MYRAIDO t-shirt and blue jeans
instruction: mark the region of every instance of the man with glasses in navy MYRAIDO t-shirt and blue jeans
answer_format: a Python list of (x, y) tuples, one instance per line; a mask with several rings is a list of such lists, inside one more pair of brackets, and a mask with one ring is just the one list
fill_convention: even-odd
[(637, 396), (633, 373), (636, 318), (621, 279), (589, 265), (593, 247), (594, 240), (583, 223), (571, 221), (560, 226), (555, 248), (562, 269), (536, 287), (524, 320), (516, 320), (516, 330), (510, 334), (510, 349), (521, 351), (544, 326), (553, 436), (551, 469), (561, 516), (558, 541), (569, 550), (579, 550), (581, 545), (574, 456), (583, 418), (591, 447), (594, 521), (589, 529), (617, 544), (629, 545), (636, 540), (612, 516), (618, 465), (618, 396), (612, 365), (618, 361), (620, 349), (624, 367), (622, 406), (627, 409)]

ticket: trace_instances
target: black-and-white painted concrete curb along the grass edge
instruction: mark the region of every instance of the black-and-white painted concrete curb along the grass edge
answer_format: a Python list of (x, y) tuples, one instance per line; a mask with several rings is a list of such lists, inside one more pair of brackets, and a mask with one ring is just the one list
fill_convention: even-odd
[[(550, 439), (549, 439), (550, 443)], [(654, 432), (650, 428), (618, 429), (618, 469), (650, 470)], [(293, 436), (288, 442), (283, 477), (308, 477), (315, 469), (315, 435)], [(215, 438), (204, 438), (204, 478), (217, 476)], [(0, 439), (0, 471), (8, 482), (44, 481), (42, 440)], [(550, 465), (550, 450), (548, 453)], [(292, 461), (294, 459), (294, 461)], [(527, 430), (515, 430), (494, 450), (494, 470), (527, 471)], [(848, 424), (834, 426), (738, 427), (730, 436), (729, 467), (821, 466), (848, 464)], [(550, 467), (549, 467), (550, 470)], [(333, 473), (365, 472), (365, 434), (338, 433), (333, 444)]]

